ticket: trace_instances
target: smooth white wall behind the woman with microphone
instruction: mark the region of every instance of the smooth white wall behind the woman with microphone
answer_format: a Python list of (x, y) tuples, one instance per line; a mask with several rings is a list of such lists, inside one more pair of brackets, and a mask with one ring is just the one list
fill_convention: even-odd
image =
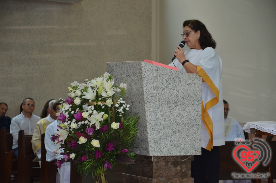
[(276, 1), (157, 2), (159, 50), (153, 59), (169, 64), (182, 40), (183, 21), (202, 21), (223, 61), (223, 96), (231, 108), (229, 116), (240, 123), (276, 121)]

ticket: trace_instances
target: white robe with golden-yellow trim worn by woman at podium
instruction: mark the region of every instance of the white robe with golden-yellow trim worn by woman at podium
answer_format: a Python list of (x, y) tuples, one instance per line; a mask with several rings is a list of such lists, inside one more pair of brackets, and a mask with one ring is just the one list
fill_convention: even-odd
[[(201, 146), (211, 150), (213, 146), (225, 144), (224, 111), (222, 95), (222, 61), (216, 50), (190, 49), (184, 52), (186, 59), (197, 67), (197, 73), (202, 77), (202, 143)], [(177, 69), (187, 73), (181, 63), (173, 61)], [(170, 66), (173, 66), (173, 63)]]

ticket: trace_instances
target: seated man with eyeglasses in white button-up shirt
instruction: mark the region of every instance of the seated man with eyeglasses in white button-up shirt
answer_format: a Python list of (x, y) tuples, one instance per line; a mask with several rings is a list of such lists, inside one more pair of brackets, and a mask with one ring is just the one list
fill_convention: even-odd
[(34, 111), (34, 100), (26, 98), (22, 104), (23, 111), (11, 120), (10, 133), (14, 138), (12, 149), (14, 156), (18, 158), (18, 133), (24, 130), (25, 135), (32, 135), (36, 123), (41, 119), (39, 116), (32, 114)]

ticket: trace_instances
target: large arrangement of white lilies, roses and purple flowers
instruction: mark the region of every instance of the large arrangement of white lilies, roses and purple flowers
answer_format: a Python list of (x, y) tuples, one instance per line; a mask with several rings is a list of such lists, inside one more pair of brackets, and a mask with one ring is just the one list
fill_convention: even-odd
[[(129, 105), (122, 97), (127, 84), (114, 84), (105, 73), (84, 83), (73, 82), (69, 97), (60, 99), (59, 128), (51, 140), (63, 149), (63, 159), (74, 161), (79, 173), (101, 176), (116, 162), (135, 164), (134, 138), (139, 117), (128, 116)], [(115, 94), (120, 92), (120, 96)]]

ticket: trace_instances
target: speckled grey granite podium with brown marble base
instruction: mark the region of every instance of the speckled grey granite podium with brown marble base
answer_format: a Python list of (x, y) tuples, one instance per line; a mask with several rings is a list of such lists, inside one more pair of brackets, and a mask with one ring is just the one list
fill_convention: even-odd
[(124, 100), (140, 116), (136, 165), (123, 182), (193, 182), (193, 155), (201, 154), (201, 77), (142, 61), (107, 63)]

